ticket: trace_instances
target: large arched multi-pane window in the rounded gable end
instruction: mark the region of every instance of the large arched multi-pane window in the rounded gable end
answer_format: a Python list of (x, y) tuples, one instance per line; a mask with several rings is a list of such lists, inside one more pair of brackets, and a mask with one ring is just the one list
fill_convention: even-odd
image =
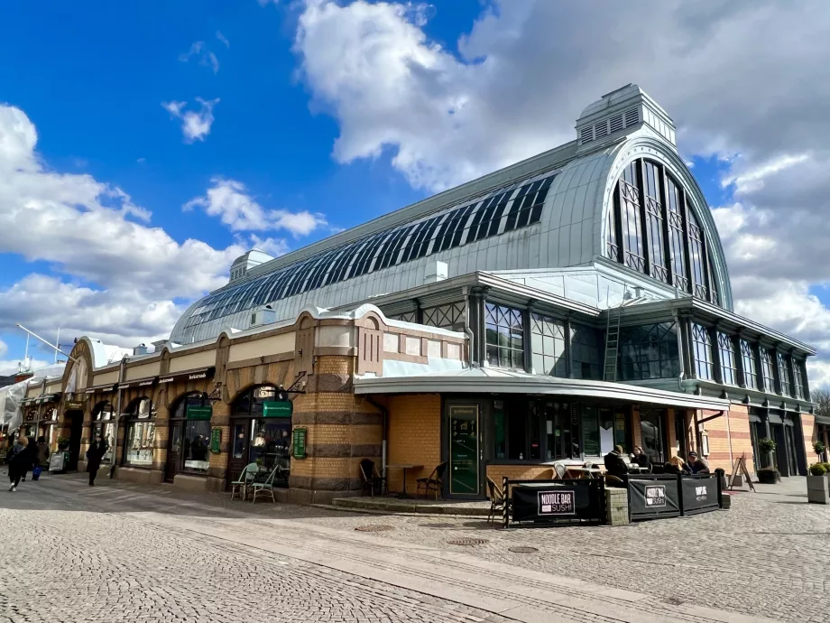
[(635, 160), (622, 170), (606, 222), (605, 256), (720, 303), (704, 231), (686, 191), (659, 163)]

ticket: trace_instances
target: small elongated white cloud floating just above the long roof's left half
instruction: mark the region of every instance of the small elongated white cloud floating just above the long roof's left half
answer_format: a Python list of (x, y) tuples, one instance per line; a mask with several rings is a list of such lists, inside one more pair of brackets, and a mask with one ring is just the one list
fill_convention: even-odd
[(312, 214), (307, 210), (264, 209), (240, 181), (215, 177), (211, 184), (205, 195), (189, 200), (184, 209), (202, 208), (210, 216), (219, 217), (231, 231), (283, 229), (298, 237), (308, 236), (315, 229), (327, 225), (322, 214)]

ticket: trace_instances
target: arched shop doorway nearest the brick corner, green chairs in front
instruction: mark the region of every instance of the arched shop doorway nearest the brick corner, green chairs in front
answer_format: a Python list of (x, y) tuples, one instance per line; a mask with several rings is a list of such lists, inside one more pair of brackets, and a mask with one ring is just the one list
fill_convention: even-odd
[(288, 393), (272, 385), (251, 387), (236, 398), (231, 406), (228, 483), (255, 462), (263, 470), (281, 467), (281, 478), (274, 485), (288, 487), (291, 412)]

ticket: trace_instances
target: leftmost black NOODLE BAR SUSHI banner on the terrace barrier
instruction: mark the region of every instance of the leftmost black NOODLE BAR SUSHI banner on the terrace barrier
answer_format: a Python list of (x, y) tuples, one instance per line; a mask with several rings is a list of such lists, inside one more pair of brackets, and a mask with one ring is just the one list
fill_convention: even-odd
[(604, 520), (604, 487), (600, 479), (509, 481), (511, 522), (555, 524), (572, 520)]

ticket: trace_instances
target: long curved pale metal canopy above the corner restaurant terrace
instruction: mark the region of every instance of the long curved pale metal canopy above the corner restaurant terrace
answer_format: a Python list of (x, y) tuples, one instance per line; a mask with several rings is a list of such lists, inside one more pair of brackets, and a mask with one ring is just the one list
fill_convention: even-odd
[(437, 393), (565, 395), (715, 411), (728, 411), (730, 406), (728, 400), (705, 395), (669, 392), (624, 383), (544, 377), (493, 367), (468, 367), (407, 377), (355, 377), (355, 394)]

